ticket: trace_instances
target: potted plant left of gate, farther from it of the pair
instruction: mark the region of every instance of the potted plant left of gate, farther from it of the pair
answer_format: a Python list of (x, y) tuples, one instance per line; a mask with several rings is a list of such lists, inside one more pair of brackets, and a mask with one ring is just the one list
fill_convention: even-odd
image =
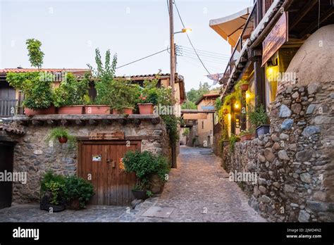
[(48, 171), (41, 180), (40, 209), (52, 212), (63, 211), (66, 208), (66, 199), (63, 194), (65, 177)]

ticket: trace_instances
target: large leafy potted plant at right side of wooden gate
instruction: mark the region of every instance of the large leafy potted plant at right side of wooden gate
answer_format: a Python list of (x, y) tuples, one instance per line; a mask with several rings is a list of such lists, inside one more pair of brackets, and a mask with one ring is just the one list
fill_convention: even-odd
[(126, 172), (135, 172), (137, 184), (132, 189), (135, 199), (147, 199), (151, 193), (151, 177), (158, 175), (161, 183), (165, 182), (165, 175), (169, 172), (166, 158), (154, 156), (148, 151), (128, 151), (123, 163)]

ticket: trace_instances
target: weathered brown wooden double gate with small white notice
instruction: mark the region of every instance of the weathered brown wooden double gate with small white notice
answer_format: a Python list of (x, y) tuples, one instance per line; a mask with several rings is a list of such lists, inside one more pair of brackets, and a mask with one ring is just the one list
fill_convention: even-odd
[(121, 168), (120, 159), (127, 151), (140, 150), (140, 141), (80, 142), (78, 176), (91, 177), (95, 195), (91, 204), (125, 206), (134, 199), (131, 189), (136, 184), (134, 173)]

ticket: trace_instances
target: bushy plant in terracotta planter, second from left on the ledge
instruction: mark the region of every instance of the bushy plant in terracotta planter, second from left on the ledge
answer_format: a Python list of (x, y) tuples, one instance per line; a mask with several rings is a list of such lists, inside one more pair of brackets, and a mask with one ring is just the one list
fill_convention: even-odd
[(87, 75), (82, 80), (76, 80), (72, 73), (67, 73), (59, 87), (54, 89), (54, 105), (58, 114), (84, 113), (85, 96), (88, 95), (89, 80)]

